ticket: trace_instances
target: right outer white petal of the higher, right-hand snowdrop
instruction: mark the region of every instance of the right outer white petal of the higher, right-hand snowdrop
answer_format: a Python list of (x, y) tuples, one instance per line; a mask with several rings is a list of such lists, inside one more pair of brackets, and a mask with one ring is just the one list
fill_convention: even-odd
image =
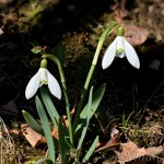
[(137, 69), (140, 68), (140, 60), (133, 47), (126, 40), (125, 42), (125, 50), (128, 61)]

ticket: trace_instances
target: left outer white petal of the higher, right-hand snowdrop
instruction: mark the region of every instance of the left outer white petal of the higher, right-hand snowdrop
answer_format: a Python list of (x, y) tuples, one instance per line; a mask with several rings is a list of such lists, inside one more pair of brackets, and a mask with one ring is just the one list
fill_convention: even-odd
[(103, 57), (103, 60), (102, 60), (103, 69), (106, 69), (112, 65), (112, 62), (116, 56), (116, 44), (117, 44), (118, 39), (119, 38), (116, 37), (115, 40), (106, 49), (104, 57)]

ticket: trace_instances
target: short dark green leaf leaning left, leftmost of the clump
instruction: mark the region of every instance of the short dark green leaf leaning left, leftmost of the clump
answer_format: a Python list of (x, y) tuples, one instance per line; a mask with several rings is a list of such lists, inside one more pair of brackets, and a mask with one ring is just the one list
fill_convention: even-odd
[(38, 132), (42, 136), (45, 136), (43, 128), (40, 127), (40, 125), (33, 118), (33, 116), (27, 113), (26, 110), (22, 110), (23, 117), (25, 119), (25, 121), (27, 122), (27, 125), (35, 130), (36, 132)]

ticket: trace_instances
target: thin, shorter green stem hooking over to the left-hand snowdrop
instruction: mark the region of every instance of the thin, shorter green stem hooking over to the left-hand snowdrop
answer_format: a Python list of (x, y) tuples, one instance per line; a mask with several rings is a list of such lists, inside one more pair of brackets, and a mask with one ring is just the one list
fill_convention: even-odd
[(65, 79), (65, 74), (63, 74), (61, 63), (60, 63), (59, 59), (54, 55), (44, 54), (42, 57), (50, 59), (58, 67), (58, 70), (59, 70), (59, 73), (60, 73), (60, 80), (61, 80), (61, 84), (62, 84), (62, 89), (63, 89), (65, 101), (66, 101), (66, 110), (67, 110), (67, 117), (68, 117), (68, 121), (69, 121), (69, 136), (70, 136), (70, 142), (71, 142), (71, 147), (72, 147), (73, 145), (73, 133), (72, 133), (70, 104), (69, 104), (69, 98), (68, 98), (68, 95), (67, 95), (66, 79)]

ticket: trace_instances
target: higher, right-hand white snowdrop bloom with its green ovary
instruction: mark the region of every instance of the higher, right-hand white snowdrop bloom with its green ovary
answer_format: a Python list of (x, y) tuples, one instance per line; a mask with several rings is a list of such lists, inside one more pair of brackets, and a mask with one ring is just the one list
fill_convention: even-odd
[(124, 28), (119, 27), (117, 37), (115, 40), (108, 46), (103, 57), (102, 67), (103, 69), (108, 68), (114, 58), (119, 57), (124, 58), (127, 57), (128, 61), (137, 69), (140, 68), (140, 61), (138, 55), (133, 47), (126, 40), (124, 37)]

